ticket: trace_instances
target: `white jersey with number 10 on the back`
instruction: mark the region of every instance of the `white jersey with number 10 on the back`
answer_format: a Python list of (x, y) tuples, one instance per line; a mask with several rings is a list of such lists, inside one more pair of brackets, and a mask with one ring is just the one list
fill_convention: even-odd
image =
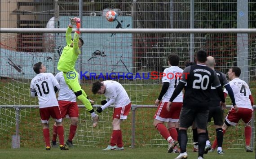
[(58, 106), (54, 91), (58, 84), (52, 73), (39, 73), (31, 80), (31, 92), (36, 92), (39, 108)]

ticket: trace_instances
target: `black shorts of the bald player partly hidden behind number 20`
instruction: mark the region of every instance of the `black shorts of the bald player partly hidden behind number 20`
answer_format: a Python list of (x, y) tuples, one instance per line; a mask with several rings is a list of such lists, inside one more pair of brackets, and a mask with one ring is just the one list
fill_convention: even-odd
[(224, 120), (224, 111), (220, 106), (217, 107), (209, 107), (209, 117), (208, 117), (208, 122), (211, 121), (213, 118), (214, 125), (223, 125), (223, 120)]

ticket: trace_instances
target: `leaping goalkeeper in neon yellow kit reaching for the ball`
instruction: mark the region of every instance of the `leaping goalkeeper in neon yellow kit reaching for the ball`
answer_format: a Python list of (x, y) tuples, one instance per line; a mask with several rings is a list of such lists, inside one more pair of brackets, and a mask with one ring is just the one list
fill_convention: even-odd
[[(66, 30), (66, 47), (63, 48), (62, 55), (59, 59), (57, 69), (63, 71), (63, 76), (67, 86), (74, 91), (76, 97), (84, 104), (88, 112), (93, 117), (93, 127), (98, 125), (98, 115), (94, 112), (92, 104), (87, 98), (84, 90), (78, 81), (78, 73), (75, 71), (75, 62), (80, 54), (80, 47), (84, 44), (84, 41), (79, 38), (80, 36), (80, 19), (78, 17), (70, 18), (70, 23)], [(74, 41), (71, 39), (71, 32), (73, 25), (76, 25), (74, 34)]]

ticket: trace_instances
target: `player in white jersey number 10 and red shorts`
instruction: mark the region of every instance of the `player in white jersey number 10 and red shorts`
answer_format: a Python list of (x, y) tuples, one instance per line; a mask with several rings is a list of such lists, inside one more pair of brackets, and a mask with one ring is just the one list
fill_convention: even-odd
[(31, 80), (31, 96), (38, 96), (39, 112), (43, 123), (44, 141), (46, 150), (51, 150), (49, 118), (52, 117), (57, 125), (57, 133), (60, 139), (61, 150), (68, 150), (64, 144), (64, 129), (62, 126), (62, 116), (56, 99), (55, 92), (60, 88), (59, 83), (51, 73), (45, 73), (46, 67), (41, 62), (34, 64), (33, 67), (37, 74)]

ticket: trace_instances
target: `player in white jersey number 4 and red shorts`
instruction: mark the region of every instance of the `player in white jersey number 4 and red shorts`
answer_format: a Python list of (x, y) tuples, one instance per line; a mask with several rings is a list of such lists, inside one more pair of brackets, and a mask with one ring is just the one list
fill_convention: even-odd
[[(244, 122), (244, 136), (245, 136), (245, 145), (246, 151), (252, 152), (252, 148), (250, 147), (251, 135), (252, 135), (252, 128), (251, 128), (251, 120), (252, 120), (252, 113), (253, 113), (253, 99), (252, 93), (249, 89), (249, 86), (246, 82), (239, 78), (241, 74), (241, 69), (238, 67), (231, 67), (228, 76), (230, 81), (230, 86), (234, 92), (234, 97), (236, 104), (238, 106), (238, 111), (232, 107), (225, 118), (225, 122), (222, 126), (223, 135), (225, 134), (226, 130), (231, 126), (237, 125), (240, 119)], [(225, 96), (227, 95), (228, 91), (225, 89)], [(216, 148), (216, 139), (212, 145), (212, 149)]]

